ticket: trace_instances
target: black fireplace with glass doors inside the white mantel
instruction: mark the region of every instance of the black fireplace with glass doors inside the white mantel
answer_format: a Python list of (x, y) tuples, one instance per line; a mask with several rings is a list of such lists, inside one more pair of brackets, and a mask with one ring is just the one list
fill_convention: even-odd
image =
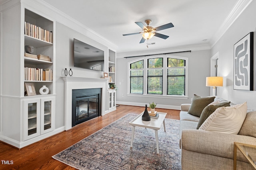
[(72, 90), (72, 127), (101, 116), (101, 88)]

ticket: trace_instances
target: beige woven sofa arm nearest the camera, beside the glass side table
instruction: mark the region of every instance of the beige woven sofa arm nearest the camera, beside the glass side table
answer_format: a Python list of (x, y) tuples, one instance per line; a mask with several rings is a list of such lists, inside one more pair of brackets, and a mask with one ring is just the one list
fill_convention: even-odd
[[(182, 150), (230, 159), (234, 158), (234, 142), (255, 145), (256, 138), (197, 129), (184, 129), (181, 137)], [(237, 154), (237, 160), (247, 162), (241, 152)]]

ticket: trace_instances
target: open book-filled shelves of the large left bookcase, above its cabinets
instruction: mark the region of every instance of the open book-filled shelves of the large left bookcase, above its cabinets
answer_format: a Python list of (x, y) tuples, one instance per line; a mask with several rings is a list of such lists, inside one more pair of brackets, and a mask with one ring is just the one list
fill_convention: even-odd
[[(24, 82), (33, 83), (36, 95), (40, 95), (39, 89), (43, 85), (49, 88), (49, 94), (54, 94), (55, 91), (53, 24), (53, 21), (25, 9)], [(28, 53), (26, 46), (32, 47), (33, 51)]]

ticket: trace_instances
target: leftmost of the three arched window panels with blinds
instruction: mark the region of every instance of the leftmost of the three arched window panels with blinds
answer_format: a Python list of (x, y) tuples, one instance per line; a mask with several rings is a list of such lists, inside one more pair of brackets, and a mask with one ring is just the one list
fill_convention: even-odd
[(144, 61), (136, 61), (130, 64), (130, 94), (143, 94)]

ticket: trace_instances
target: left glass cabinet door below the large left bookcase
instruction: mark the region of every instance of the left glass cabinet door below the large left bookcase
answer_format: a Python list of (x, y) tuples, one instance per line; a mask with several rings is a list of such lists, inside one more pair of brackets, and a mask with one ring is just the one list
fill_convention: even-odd
[(24, 109), (24, 140), (40, 135), (40, 100), (25, 100)]

